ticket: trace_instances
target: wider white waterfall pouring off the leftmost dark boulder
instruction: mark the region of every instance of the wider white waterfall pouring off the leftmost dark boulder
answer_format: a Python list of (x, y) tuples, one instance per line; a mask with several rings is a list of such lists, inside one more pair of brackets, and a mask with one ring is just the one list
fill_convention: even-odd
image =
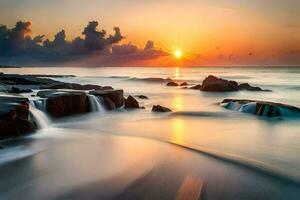
[(30, 100), (29, 111), (39, 129), (47, 128), (51, 124), (50, 118), (45, 112), (43, 100)]

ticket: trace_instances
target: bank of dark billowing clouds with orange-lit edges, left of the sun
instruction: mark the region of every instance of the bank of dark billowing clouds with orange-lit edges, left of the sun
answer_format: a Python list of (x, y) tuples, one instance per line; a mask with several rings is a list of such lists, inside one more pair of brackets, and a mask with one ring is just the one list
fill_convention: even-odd
[(98, 25), (97, 21), (89, 22), (82, 36), (72, 41), (66, 40), (65, 30), (59, 31), (53, 40), (46, 39), (45, 35), (32, 37), (31, 22), (19, 21), (11, 29), (0, 25), (0, 57), (39, 56), (68, 59), (97, 54), (119, 59), (150, 59), (166, 55), (163, 50), (155, 49), (152, 41), (148, 41), (143, 49), (131, 43), (119, 44), (125, 39), (119, 27), (115, 27), (114, 33), (108, 35), (105, 30), (99, 31)]

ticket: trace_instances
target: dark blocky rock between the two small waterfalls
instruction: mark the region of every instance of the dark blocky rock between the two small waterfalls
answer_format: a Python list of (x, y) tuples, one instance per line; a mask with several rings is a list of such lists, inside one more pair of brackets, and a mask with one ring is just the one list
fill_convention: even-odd
[(52, 117), (64, 117), (90, 112), (90, 105), (84, 92), (60, 92), (48, 97), (46, 111)]

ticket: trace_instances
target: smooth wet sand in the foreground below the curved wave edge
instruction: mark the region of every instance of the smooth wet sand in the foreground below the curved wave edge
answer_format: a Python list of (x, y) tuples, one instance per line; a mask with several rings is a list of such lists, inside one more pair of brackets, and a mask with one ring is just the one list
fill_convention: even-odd
[(2, 164), (0, 179), (1, 199), (300, 199), (299, 185), (172, 144), (109, 134), (51, 142)]

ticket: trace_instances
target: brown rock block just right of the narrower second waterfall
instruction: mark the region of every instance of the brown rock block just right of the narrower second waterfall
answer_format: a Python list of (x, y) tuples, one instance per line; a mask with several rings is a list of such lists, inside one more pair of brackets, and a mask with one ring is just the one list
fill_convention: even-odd
[[(113, 89), (109, 89), (109, 90), (95, 90), (95, 91), (91, 91), (90, 94), (93, 94), (95, 96), (99, 96), (102, 97), (104, 99), (104, 102), (113, 102), (113, 104), (115, 105), (114, 108), (120, 108), (124, 105), (124, 96), (123, 96), (123, 90), (113, 90)], [(109, 98), (110, 101), (106, 100), (105, 98)], [(111, 110), (111, 105), (106, 104), (106, 107), (108, 110)]]

